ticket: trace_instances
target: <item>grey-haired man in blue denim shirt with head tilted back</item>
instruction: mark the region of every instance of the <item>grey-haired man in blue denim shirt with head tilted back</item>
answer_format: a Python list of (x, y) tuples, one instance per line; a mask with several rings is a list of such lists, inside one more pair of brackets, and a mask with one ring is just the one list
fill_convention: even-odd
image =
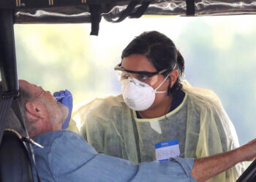
[(173, 158), (140, 165), (97, 154), (80, 135), (61, 130), (68, 111), (50, 92), (24, 80), (19, 84), (29, 135), (44, 146), (34, 146), (42, 181), (206, 181), (238, 162), (256, 157), (256, 140), (212, 157)]

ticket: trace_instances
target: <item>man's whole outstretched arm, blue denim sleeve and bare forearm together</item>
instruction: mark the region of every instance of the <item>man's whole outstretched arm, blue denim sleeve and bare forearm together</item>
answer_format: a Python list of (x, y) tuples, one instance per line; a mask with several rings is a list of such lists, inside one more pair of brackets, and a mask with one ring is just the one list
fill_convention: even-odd
[(177, 158), (140, 165), (97, 154), (74, 132), (48, 132), (35, 141), (45, 146), (34, 152), (39, 175), (48, 181), (206, 181), (238, 162), (256, 157), (256, 139), (233, 151), (195, 159), (195, 163), (193, 159)]

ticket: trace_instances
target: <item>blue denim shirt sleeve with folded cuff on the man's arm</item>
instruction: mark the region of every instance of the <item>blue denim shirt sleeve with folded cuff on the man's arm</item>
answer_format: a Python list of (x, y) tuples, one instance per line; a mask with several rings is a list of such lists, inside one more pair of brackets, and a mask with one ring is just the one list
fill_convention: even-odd
[(55, 140), (48, 155), (55, 181), (195, 181), (190, 175), (194, 159), (135, 165), (97, 152), (86, 141), (68, 132)]

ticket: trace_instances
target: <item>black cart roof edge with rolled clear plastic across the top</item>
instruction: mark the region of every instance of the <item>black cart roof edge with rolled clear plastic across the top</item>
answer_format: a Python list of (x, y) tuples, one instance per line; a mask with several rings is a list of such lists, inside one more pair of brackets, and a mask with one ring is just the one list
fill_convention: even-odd
[(1, 9), (15, 11), (15, 23), (91, 23), (95, 12), (116, 22), (141, 15), (243, 15), (256, 13), (256, 1), (247, 0), (2, 0)]

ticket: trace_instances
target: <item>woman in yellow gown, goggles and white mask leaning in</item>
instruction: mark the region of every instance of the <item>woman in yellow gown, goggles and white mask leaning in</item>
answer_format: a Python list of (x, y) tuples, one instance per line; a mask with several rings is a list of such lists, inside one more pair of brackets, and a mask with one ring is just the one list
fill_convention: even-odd
[[(164, 34), (135, 37), (114, 69), (122, 95), (95, 99), (73, 114), (98, 152), (138, 164), (207, 157), (239, 146), (217, 95), (182, 80), (184, 58)], [(243, 170), (238, 164), (212, 181), (236, 181)]]

